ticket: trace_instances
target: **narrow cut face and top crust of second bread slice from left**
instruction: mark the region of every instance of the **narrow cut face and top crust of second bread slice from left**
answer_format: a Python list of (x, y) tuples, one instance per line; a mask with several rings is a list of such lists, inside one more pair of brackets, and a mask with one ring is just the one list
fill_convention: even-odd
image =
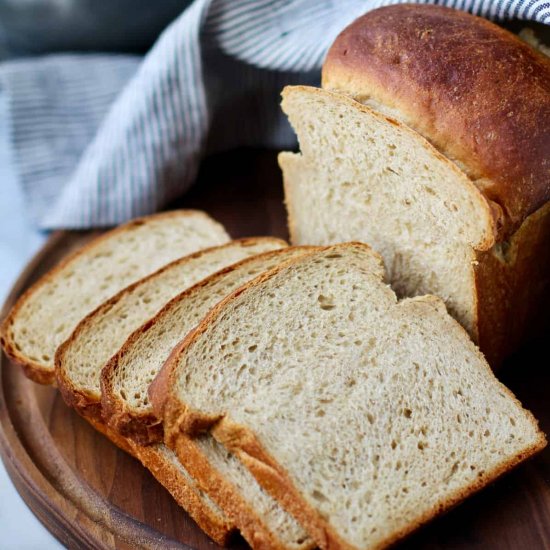
[(102, 418), (101, 369), (135, 329), (208, 275), (243, 258), (284, 246), (284, 241), (272, 237), (231, 241), (179, 258), (122, 289), (82, 319), (59, 346), (55, 374), (65, 401), (84, 416)]

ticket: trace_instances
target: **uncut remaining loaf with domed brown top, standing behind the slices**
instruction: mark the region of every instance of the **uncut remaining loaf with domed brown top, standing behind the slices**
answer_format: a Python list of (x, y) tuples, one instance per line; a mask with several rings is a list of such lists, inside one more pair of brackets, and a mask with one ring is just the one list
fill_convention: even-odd
[(283, 94), (292, 242), (369, 243), (497, 366), (550, 295), (550, 59), (485, 19), (395, 5), (340, 34), (322, 81)]

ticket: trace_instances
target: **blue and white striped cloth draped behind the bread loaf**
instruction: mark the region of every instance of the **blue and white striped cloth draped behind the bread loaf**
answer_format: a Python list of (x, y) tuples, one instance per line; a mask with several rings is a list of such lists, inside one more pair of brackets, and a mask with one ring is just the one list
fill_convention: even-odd
[[(340, 30), (392, 3), (195, 0), (143, 59), (52, 55), (2, 64), (0, 93), (8, 95), (32, 219), (42, 228), (119, 223), (184, 192), (206, 152), (292, 146), (278, 107), (283, 85), (317, 83)], [(424, 3), (550, 24), (544, 0)]]

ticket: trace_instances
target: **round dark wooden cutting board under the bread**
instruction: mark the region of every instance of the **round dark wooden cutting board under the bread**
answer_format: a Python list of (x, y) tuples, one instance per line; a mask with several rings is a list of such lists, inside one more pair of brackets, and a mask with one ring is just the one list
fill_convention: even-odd
[[(248, 151), (211, 159), (177, 206), (207, 210), (233, 237), (286, 237), (273, 154)], [(26, 287), (93, 235), (52, 235), (20, 276), (2, 316)], [(547, 433), (549, 363), (547, 345), (539, 340), (499, 372)], [(70, 548), (216, 547), (136, 460), (95, 432), (55, 389), (27, 380), (5, 355), (0, 357), (0, 452), (25, 502)], [(233, 547), (243, 546), (235, 539)], [(550, 549), (550, 450), (400, 548)]]

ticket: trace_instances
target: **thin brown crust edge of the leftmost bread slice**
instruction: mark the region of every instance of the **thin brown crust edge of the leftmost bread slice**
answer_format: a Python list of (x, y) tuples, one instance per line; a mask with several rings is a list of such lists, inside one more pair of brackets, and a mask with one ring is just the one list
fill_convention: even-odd
[[(141, 218), (133, 219), (123, 225), (115, 227), (110, 231), (106, 231), (100, 236), (96, 237), (89, 243), (85, 244), (83, 247), (74, 251), (72, 254), (69, 254), (64, 258), (59, 264), (57, 264), (53, 269), (41, 277), (36, 283), (29, 287), (17, 300), (14, 304), (7, 317), (3, 320), (2, 325), (0, 326), (0, 344), (2, 345), (6, 355), (15, 363), (18, 363), (23, 368), (23, 372), (27, 378), (30, 378), (38, 384), (54, 384), (55, 383), (55, 372), (53, 368), (44, 366), (37, 361), (34, 361), (30, 357), (24, 354), (21, 350), (17, 348), (16, 343), (14, 342), (10, 327), (13, 325), (14, 319), (17, 317), (22, 306), (35, 294), (35, 292), (40, 289), (42, 286), (50, 282), (57, 273), (59, 273), (64, 267), (68, 264), (82, 256), (83, 254), (88, 253), (90, 250), (93, 250), (95, 246), (99, 243), (110, 239), (113, 235), (123, 233), (128, 229), (135, 227), (136, 225), (143, 225), (150, 220), (158, 220), (164, 218), (173, 218), (180, 216), (209, 216), (200, 210), (171, 210), (168, 212), (161, 212), (158, 214), (153, 214), (150, 216), (143, 216)], [(214, 220), (213, 220), (214, 221)]]

